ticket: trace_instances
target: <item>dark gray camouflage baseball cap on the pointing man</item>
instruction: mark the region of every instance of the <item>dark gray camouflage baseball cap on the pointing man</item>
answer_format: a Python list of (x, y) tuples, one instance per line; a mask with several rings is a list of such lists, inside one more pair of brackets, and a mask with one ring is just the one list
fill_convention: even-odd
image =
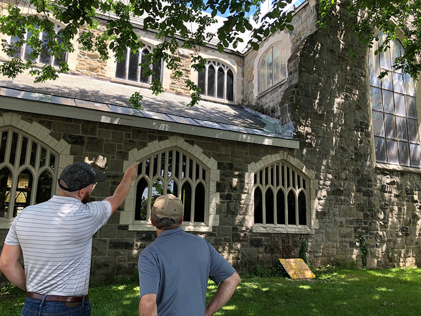
[[(60, 183), (62, 180), (67, 187)], [(78, 191), (95, 182), (102, 182), (107, 180), (107, 176), (92, 168), (86, 162), (75, 162), (63, 169), (59, 177), (59, 186), (69, 192)]]

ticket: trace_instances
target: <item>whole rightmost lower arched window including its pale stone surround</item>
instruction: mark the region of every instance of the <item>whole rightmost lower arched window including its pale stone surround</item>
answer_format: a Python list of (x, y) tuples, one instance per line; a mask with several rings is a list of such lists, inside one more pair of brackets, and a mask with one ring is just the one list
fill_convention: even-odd
[(254, 232), (314, 233), (318, 228), (311, 208), (314, 172), (286, 152), (267, 155), (249, 164), (249, 215)]

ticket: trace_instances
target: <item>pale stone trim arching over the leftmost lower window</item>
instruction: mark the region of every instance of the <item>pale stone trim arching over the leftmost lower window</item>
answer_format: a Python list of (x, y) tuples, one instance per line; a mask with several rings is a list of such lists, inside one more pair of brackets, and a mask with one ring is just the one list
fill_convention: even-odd
[[(64, 139), (58, 141), (50, 136), (49, 133), (51, 133), (51, 131), (36, 121), (29, 123), (27, 120), (22, 119), (22, 116), (17, 113), (5, 112), (0, 116), (0, 128), (4, 127), (12, 127), (18, 131), (22, 131), (24, 134), (30, 135), (36, 142), (44, 144), (46, 147), (56, 152), (58, 154), (56, 158), (58, 159), (56, 175), (60, 175), (65, 166), (73, 163), (73, 156), (70, 155), (70, 145)], [(56, 186), (54, 194), (56, 194), (57, 191), (58, 187)], [(12, 219), (5, 218), (3, 221), (0, 219), (0, 229), (9, 229), (11, 223)]]

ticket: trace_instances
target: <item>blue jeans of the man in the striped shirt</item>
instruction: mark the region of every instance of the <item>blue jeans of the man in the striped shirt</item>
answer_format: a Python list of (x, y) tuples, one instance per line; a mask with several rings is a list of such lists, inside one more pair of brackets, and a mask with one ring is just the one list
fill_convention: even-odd
[[(68, 306), (65, 305), (76, 305)], [(21, 316), (90, 316), (91, 304), (89, 300), (79, 303), (50, 302), (27, 297), (23, 305)]]

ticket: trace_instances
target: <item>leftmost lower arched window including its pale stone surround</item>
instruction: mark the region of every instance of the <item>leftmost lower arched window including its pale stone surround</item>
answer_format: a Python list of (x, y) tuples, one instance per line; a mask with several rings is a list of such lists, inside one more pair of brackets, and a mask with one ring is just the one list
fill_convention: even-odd
[(49, 133), (49, 129), (36, 121), (30, 123), (17, 113), (5, 112), (0, 116), (0, 170), (7, 167), (10, 171), (9, 209), (13, 210), (7, 218), (0, 217), (0, 228), (9, 228), (12, 217), (24, 206), (51, 197), (62, 170), (60, 161), (72, 162), (70, 145)]

